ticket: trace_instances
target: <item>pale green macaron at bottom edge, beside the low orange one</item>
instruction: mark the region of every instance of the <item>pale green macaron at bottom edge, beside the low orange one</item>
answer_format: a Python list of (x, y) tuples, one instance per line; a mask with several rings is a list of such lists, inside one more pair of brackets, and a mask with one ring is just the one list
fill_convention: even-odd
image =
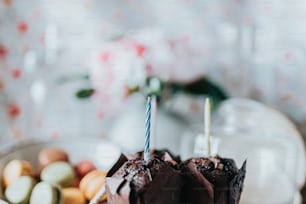
[(31, 193), (29, 204), (60, 204), (62, 203), (62, 192), (59, 187), (47, 182), (35, 185)]

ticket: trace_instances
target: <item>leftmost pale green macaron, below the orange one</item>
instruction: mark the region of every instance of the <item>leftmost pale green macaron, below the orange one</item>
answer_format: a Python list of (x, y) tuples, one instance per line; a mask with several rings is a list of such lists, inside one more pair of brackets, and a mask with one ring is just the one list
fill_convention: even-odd
[(35, 180), (30, 176), (21, 176), (13, 181), (5, 190), (7, 201), (13, 204), (28, 203)]

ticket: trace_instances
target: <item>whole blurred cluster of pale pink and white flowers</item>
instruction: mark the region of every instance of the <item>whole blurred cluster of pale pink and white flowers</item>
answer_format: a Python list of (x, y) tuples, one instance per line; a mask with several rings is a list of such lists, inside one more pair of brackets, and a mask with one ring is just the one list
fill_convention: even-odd
[(202, 53), (193, 43), (186, 35), (174, 38), (158, 29), (143, 29), (102, 44), (90, 60), (93, 97), (119, 110), (128, 90), (143, 88), (147, 77), (188, 82), (203, 76)]

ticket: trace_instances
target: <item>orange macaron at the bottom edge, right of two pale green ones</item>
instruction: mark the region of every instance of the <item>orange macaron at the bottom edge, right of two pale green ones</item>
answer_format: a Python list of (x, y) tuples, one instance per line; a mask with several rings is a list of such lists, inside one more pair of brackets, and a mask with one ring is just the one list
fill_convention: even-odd
[(63, 204), (86, 204), (86, 199), (79, 188), (64, 188)]

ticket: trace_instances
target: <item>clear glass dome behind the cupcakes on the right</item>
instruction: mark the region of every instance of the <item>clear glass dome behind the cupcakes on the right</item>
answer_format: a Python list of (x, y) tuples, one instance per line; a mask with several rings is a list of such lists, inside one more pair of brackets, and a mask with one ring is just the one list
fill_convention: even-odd
[[(212, 124), (212, 152), (233, 158), (238, 168), (247, 160), (242, 204), (301, 202), (305, 148), (290, 120), (263, 104), (236, 98), (220, 105)], [(202, 132), (201, 125), (185, 132), (181, 141), (183, 159), (198, 156), (195, 148)]]

